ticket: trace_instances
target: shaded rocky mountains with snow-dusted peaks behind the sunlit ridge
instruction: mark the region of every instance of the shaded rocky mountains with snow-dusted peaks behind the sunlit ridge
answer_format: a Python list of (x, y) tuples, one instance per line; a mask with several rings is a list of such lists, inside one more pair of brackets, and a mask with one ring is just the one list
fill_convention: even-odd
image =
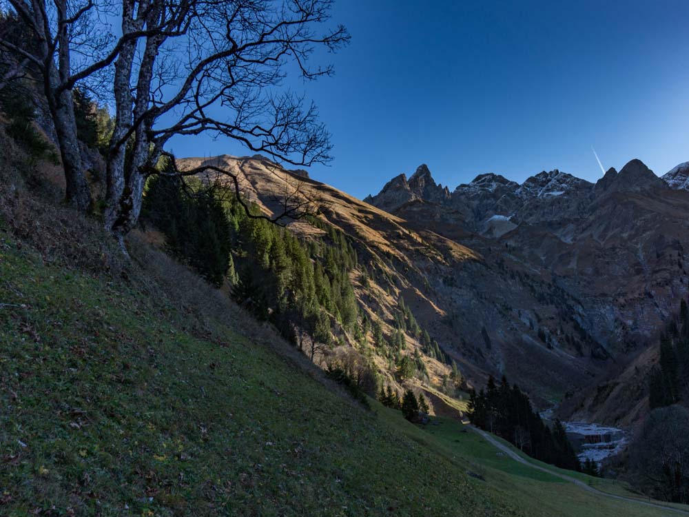
[[(387, 187), (371, 201), (387, 199), (387, 210), (415, 228), (433, 228), (462, 244), (471, 235), (492, 239), (532, 271), (554, 274), (557, 285), (581, 301), (579, 323), (604, 348), (600, 353), (615, 355), (657, 332), (688, 290), (681, 269), (681, 243), (689, 239), (688, 179), (689, 163), (661, 179), (632, 160), (595, 185), (559, 170), (521, 185), (481, 174), (449, 199), (418, 194), (418, 203), (433, 210), (418, 205), (411, 211), (387, 197)], [(453, 223), (464, 237), (451, 230)]]

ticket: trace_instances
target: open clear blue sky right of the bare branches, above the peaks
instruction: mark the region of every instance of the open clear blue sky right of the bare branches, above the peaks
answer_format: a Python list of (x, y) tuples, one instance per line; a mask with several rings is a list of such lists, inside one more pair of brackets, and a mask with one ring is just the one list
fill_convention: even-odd
[[(334, 161), (311, 176), (360, 198), (420, 163), (453, 190), (484, 172), (595, 181), (591, 145), (618, 170), (689, 161), (686, 0), (338, 0), (333, 21), (352, 36), (322, 57), (335, 77), (289, 85), (333, 133)], [(249, 154), (203, 137), (172, 147)]]

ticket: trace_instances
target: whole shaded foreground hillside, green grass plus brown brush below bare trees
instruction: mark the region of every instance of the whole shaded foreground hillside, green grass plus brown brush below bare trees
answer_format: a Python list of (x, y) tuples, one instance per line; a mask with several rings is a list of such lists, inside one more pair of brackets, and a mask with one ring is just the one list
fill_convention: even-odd
[(0, 185), (0, 514), (664, 511), (520, 465), (456, 420), (365, 409), (154, 233), (130, 236), (123, 261), (96, 221), (14, 172)]

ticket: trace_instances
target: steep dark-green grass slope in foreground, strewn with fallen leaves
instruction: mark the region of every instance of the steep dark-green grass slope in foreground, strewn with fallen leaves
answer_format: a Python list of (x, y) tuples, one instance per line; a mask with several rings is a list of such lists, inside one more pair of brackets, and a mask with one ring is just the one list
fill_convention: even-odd
[(522, 514), (399, 416), (5, 234), (0, 303), (0, 514)]

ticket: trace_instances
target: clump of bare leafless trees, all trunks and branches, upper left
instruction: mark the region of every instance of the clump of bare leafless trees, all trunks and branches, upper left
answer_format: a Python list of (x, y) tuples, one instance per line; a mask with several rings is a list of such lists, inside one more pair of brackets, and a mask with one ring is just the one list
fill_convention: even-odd
[[(114, 68), (105, 227), (121, 242), (138, 220), (145, 179), (157, 172), (173, 136), (225, 136), (293, 165), (330, 159), (316, 108), (282, 81), (289, 67), (305, 79), (332, 73), (308, 65), (316, 48), (335, 51), (349, 41), (342, 26), (316, 32), (329, 20), (332, 0), (6, 1), (39, 50), (1, 35), (0, 45), (41, 73), (67, 198), (80, 210), (91, 200), (72, 89)], [(101, 24), (103, 13), (119, 19), (119, 37)]]

